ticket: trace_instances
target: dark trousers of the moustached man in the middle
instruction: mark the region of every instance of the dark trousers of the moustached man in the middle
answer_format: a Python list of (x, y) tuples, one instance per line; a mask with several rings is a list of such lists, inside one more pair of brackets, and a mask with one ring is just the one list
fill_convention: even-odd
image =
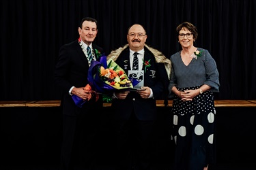
[(154, 120), (138, 120), (134, 114), (129, 120), (113, 119), (113, 165), (118, 170), (150, 169)]

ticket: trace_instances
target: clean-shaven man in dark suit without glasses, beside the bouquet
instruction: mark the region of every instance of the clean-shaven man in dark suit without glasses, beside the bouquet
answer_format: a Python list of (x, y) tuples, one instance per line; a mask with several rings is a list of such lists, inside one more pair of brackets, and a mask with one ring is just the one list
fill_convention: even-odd
[[(93, 43), (98, 33), (97, 20), (83, 18), (78, 31), (79, 39), (60, 48), (55, 67), (55, 85), (62, 91), (61, 169), (92, 166), (96, 154), (95, 137), (102, 111), (102, 96), (96, 100), (96, 94), (85, 88), (91, 60), (100, 61), (100, 56), (104, 53), (102, 48)], [(72, 95), (87, 102), (79, 107), (74, 103)], [(90, 95), (92, 97), (88, 100)]]

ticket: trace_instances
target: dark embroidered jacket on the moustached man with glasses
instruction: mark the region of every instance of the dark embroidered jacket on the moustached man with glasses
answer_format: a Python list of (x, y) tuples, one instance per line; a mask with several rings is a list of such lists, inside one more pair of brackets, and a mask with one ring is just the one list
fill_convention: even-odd
[[(111, 108), (115, 118), (127, 119), (134, 109), (134, 113), (139, 120), (156, 119), (156, 99), (160, 99), (163, 96), (162, 93), (167, 89), (169, 80), (165, 65), (163, 63), (156, 63), (154, 54), (146, 47), (144, 49), (144, 61), (150, 60), (151, 64), (144, 73), (144, 86), (152, 88), (154, 99), (142, 99), (137, 92), (130, 92), (124, 100), (113, 99)], [(128, 70), (130, 70), (129, 48), (123, 50), (115, 62), (128, 74)], [(144, 69), (145, 65), (143, 65)]]

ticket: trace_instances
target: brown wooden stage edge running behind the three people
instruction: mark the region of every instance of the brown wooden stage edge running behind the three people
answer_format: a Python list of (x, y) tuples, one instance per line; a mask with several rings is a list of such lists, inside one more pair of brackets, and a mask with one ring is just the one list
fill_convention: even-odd
[[(173, 101), (168, 101), (168, 107)], [(256, 107), (256, 100), (215, 100), (215, 107)], [(59, 107), (60, 100), (50, 101), (0, 101), (0, 107)], [(104, 107), (110, 107), (111, 103), (103, 103)], [(157, 107), (165, 107), (164, 100), (156, 101)]]

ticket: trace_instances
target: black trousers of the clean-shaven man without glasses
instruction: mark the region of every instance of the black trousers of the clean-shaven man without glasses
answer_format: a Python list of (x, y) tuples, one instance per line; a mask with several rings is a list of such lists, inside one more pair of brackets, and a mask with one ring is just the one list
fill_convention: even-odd
[(98, 124), (89, 114), (63, 115), (61, 170), (92, 169), (96, 161)]

